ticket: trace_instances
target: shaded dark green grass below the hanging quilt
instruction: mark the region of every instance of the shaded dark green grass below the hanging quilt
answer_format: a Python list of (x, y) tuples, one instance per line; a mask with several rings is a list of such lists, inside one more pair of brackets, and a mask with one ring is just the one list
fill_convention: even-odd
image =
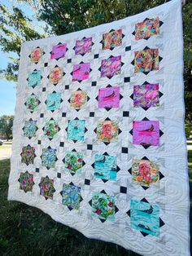
[(7, 201), (10, 161), (0, 161), (0, 255), (136, 256), (118, 245), (90, 240), (37, 208)]

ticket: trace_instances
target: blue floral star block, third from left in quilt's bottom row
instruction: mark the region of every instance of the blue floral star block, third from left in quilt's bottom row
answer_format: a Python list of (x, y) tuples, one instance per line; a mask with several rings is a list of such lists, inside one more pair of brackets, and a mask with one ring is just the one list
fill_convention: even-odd
[(63, 183), (62, 204), (68, 206), (69, 210), (79, 210), (81, 201), (81, 188), (73, 183)]

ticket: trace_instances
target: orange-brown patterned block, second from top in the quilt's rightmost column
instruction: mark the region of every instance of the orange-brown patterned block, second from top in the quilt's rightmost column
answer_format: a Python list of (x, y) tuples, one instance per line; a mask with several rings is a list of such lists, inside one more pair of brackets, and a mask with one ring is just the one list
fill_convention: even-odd
[(149, 73), (159, 70), (159, 49), (134, 52), (134, 73)]

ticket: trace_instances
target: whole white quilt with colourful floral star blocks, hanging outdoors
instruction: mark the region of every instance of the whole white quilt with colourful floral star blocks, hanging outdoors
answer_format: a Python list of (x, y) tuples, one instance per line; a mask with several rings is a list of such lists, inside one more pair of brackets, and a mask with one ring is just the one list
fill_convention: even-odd
[(190, 254), (181, 1), (24, 42), (8, 200), (142, 255)]

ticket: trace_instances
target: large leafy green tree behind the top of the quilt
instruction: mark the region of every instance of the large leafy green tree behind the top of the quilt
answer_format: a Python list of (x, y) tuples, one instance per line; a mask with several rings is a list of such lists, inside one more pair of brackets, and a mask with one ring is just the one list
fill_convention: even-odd
[[(20, 0), (34, 7), (38, 20), (46, 22), (46, 31), (50, 34), (61, 35), (81, 29), (87, 29), (98, 24), (104, 24), (113, 20), (120, 20), (129, 15), (146, 11), (164, 0)], [(29, 20), (18, 8), (8, 11), (5, 6), (0, 5), (0, 33), (5, 33), (9, 38), (0, 38), (0, 45), (5, 52), (20, 52), (20, 44), (26, 40), (44, 37), (35, 32)], [(185, 118), (187, 122), (192, 121), (192, 2), (186, 1), (183, 7), (183, 29), (184, 29), (184, 81), (185, 81)], [(10, 26), (18, 30), (19, 35), (15, 38)], [(15, 79), (18, 64), (8, 64), (7, 69), (1, 73), (7, 79)]]

